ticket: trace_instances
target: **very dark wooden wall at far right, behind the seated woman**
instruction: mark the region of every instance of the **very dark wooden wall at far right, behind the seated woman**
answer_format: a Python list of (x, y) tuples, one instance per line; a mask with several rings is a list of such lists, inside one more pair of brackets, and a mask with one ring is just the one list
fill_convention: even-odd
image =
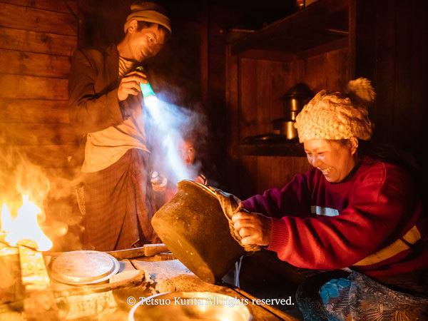
[(424, 163), (428, 135), (428, 6), (425, 1), (357, 1), (356, 74), (372, 80), (376, 139)]

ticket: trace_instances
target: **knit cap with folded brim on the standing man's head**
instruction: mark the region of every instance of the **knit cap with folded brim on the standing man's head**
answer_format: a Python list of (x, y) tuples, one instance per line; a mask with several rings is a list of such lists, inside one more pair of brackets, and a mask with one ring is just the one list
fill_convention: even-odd
[(135, 19), (136, 21), (146, 21), (164, 26), (171, 33), (171, 21), (166, 16), (166, 11), (162, 6), (151, 1), (134, 1), (131, 4), (131, 14), (126, 18), (123, 31), (128, 30), (129, 22)]

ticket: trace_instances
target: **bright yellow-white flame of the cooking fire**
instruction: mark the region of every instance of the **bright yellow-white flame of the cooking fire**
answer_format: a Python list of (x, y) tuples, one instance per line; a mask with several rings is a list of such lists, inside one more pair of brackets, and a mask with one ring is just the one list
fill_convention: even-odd
[(37, 250), (50, 250), (52, 242), (44, 235), (37, 223), (37, 214), (41, 213), (40, 208), (29, 200), (28, 195), (22, 195), (22, 202), (15, 220), (12, 219), (6, 203), (1, 207), (1, 230), (6, 235), (4, 240), (11, 246), (16, 246), (23, 240), (31, 240), (36, 243)]

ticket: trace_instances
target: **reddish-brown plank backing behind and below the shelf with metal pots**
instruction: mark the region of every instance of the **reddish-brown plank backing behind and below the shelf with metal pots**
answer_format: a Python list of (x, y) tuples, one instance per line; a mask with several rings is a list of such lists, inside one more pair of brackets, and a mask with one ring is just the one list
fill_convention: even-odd
[(272, 120), (285, 116), (280, 97), (295, 84), (307, 83), (315, 93), (340, 90), (350, 79), (349, 56), (345, 48), (291, 62), (226, 58), (229, 177), (237, 182), (230, 185), (246, 198), (285, 185), (310, 165), (304, 157), (240, 156), (233, 146), (247, 136), (272, 133)]

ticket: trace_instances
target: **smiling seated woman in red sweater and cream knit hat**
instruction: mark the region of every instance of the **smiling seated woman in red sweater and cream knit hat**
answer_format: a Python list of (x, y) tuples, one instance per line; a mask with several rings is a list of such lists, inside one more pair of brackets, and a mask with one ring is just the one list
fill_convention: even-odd
[[(387, 318), (382, 320), (393, 320), (387, 313), (396, 313), (401, 299), (413, 301), (411, 295), (394, 301), (399, 292), (391, 289), (417, 295), (427, 291), (424, 275), (428, 267), (428, 229), (422, 191), (406, 168), (375, 157), (366, 148), (372, 137), (373, 125), (367, 112), (372, 101), (373, 88), (364, 78), (350, 81), (345, 94), (317, 93), (296, 119), (300, 143), (314, 168), (295, 175), (282, 188), (244, 200), (248, 212), (233, 216), (243, 244), (264, 245), (295, 267), (350, 267), (351, 276), (340, 285), (332, 281), (319, 289), (322, 304), (305, 305), (297, 296), (300, 310), (317, 306), (312, 316), (330, 311), (328, 319), (342, 320), (362, 317), (364, 311), (377, 315), (382, 310)], [(375, 285), (383, 290), (374, 291)], [(329, 297), (332, 286), (337, 293)], [(348, 294), (347, 309), (337, 312), (340, 304), (332, 301), (342, 300), (346, 296), (343, 291)], [(392, 304), (379, 307), (384, 297), (366, 297), (374, 292), (388, 292)], [(360, 293), (357, 300), (350, 302), (356, 293)], [(421, 300), (413, 317), (421, 317), (421, 309), (426, 312), (428, 300)], [(310, 312), (302, 312), (311, 318)]]

